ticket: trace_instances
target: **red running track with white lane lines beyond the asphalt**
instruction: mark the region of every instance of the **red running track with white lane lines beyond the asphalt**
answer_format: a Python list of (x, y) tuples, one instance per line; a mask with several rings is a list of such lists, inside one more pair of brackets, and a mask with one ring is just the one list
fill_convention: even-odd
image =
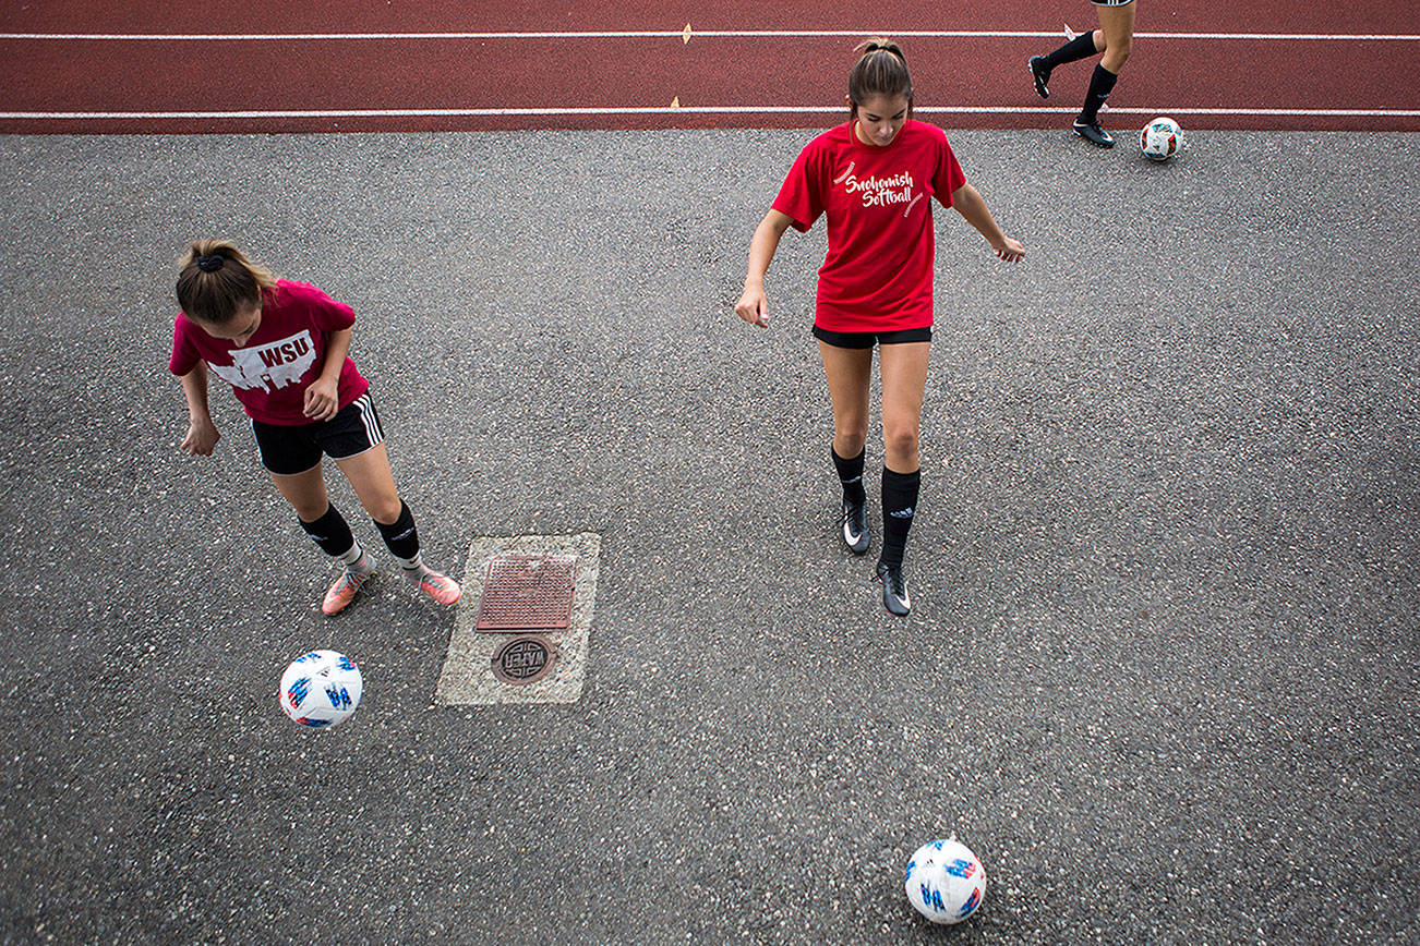
[[(1189, 128), (1420, 130), (1420, 23), (1410, 0), (1316, 4), (1285, 21), (1271, 0), (1238, 0), (1227, 23), (1201, 0), (1136, 1), (1133, 55), (1108, 126), (1172, 113)], [(1096, 23), (1086, 0), (981, 3), (950, 21), (940, 3), (922, 0), (832, 10), (798, 0), (94, 7), (0, 9), (0, 132), (824, 126), (843, 115), (852, 47), (872, 34), (902, 40), (923, 118), (1054, 128), (1079, 106), (1091, 65), (1061, 67), (1041, 101), (1025, 60), (1064, 41), (1066, 23), (1079, 31)], [(846, 35), (828, 35), (838, 31)], [(214, 38), (234, 35), (247, 38)]]

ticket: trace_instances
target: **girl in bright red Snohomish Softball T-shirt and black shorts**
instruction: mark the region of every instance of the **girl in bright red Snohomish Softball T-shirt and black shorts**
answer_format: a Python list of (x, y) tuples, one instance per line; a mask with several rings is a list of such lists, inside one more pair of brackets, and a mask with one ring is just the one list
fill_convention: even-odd
[(956, 207), (1001, 260), (1025, 255), (977, 189), (966, 183), (940, 128), (912, 118), (912, 78), (896, 43), (870, 40), (848, 77), (849, 121), (798, 156), (750, 241), (748, 275), (734, 311), (768, 328), (764, 274), (788, 227), (828, 216), (814, 335), (834, 404), (834, 467), (843, 485), (842, 536), (868, 552), (863, 457), (873, 346), (883, 391), (883, 546), (878, 580), (896, 616), (912, 608), (902, 573), (920, 484), (917, 427), (932, 350), (932, 199)]

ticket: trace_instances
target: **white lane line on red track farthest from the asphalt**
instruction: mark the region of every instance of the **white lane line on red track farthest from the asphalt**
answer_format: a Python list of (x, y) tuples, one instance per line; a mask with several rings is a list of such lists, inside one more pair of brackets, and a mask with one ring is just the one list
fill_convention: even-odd
[[(1059, 30), (696, 30), (693, 38), (781, 37), (926, 37), (926, 38), (1056, 38)], [(684, 30), (586, 30), (564, 33), (0, 33), (0, 40), (89, 40), (105, 43), (253, 43), (349, 40), (666, 40), (684, 41)], [(1399, 41), (1420, 33), (1136, 33), (1139, 40), (1268, 40), (1268, 41)]]

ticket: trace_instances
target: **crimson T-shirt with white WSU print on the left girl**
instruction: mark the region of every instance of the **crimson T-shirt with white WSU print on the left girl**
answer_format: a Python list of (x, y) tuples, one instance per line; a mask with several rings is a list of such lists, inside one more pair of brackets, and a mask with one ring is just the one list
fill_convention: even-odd
[[(182, 377), (207, 363), (231, 384), (247, 416), (267, 424), (293, 427), (312, 423), (301, 413), (305, 389), (321, 376), (331, 332), (355, 325), (355, 311), (312, 285), (278, 279), (261, 296), (261, 325), (246, 345), (214, 339), (182, 312), (173, 325), (173, 356), (168, 370)], [(355, 362), (345, 357), (338, 396), (345, 407), (369, 387)]]

